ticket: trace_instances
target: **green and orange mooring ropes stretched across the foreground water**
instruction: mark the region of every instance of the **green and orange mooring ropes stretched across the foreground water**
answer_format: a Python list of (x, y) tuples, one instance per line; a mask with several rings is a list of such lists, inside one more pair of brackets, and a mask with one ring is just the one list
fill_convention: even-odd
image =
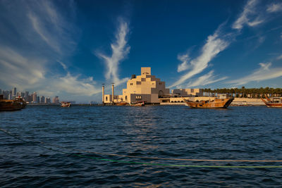
[[(27, 142), (26, 138), (19, 137), (15, 134), (11, 134), (11, 132), (8, 132), (6, 130), (1, 129), (1, 132), (4, 132), (8, 134), (11, 137), (14, 137), (20, 141)], [(91, 158), (94, 160), (98, 161), (109, 161), (109, 162), (116, 162), (116, 163), (127, 163), (127, 164), (138, 164), (138, 165), (154, 165), (154, 166), (170, 166), (170, 167), (195, 167), (195, 168), (282, 168), (282, 166), (279, 165), (261, 165), (261, 166), (248, 166), (248, 165), (176, 165), (176, 164), (166, 164), (166, 163), (144, 163), (144, 162), (135, 162), (135, 161), (121, 161), (121, 160), (112, 160), (112, 159), (107, 159), (107, 158), (97, 158), (97, 157), (92, 157), (92, 156), (85, 156), (85, 155), (80, 155), (80, 154), (75, 154), (75, 153), (67, 153), (65, 151), (61, 151), (58, 149), (52, 149), (47, 146), (43, 146), (42, 144), (47, 144), (49, 146), (55, 146), (61, 149), (68, 149), (66, 147), (62, 146), (56, 146), (54, 144), (48, 144), (46, 142), (38, 142), (32, 139), (29, 139), (32, 142), (37, 142), (36, 144), (39, 147), (42, 147), (44, 149), (49, 149), (51, 151), (56, 151), (59, 153), (64, 153), (67, 155), (71, 156), (77, 156), (80, 158)], [(145, 158), (145, 159), (157, 159), (157, 160), (170, 160), (170, 161), (209, 161), (209, 162), (271, 162), (271, 163), (278, 163), (282, 162), (281, 160), (214, 160), (214, 159), (186, 159), (186, 158), (155, 158), (155, 157), (142, 157), (142, 156), (126, 156), (126, 155), (119, 155), (119, 154), (114, 154), (114, 153), (99, 153), (99, 152), (93, 152), (93, 151), (85, 151), (85, 150), (75, 150), (71, 149), (72, 151), (79, 151), (79, 152), (85, 152), (85, 153), (94, 153), (94, 154), (99, 154), (99, 155), (108, 155), (108, 156), (121, 156), (121, 157), (128, 157), (128, 158)]]

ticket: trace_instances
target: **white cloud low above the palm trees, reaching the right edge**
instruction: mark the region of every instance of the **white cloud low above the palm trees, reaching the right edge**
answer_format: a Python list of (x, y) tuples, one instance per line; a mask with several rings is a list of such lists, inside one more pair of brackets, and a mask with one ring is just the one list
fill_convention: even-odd
[(282, 76), (282, 68), (271, 68), (271, 63), (259, 63), (260, 68), (255, 70), (248, 76), (242, 77), (238, 80), (231, 80), (226, 83), (242, 85), (252, 81), (269, 80)]

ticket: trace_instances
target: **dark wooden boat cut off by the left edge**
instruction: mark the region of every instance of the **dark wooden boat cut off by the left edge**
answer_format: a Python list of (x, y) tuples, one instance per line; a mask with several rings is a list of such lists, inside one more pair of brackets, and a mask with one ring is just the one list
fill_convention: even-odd
[(20, 96), (15, 100), (4, 99), (3, 95), (0, 95), (0, 111), (18, 111), (25, 108), (26, 102)]

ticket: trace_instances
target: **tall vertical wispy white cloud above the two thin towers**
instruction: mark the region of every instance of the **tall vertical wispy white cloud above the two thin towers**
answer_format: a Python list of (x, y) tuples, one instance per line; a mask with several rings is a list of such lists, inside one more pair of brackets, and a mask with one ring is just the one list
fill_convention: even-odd
[(104, 60), (106, 64), (106, 79), (115, 82), (116, 84), (121, 84), (121, 82), (125, 82), (126, 79), (120, 80), (118, 76), (118, 65), (123, 61), (126, 56), (128, 56), (130, 51), (130, 46), (128, 46), (128, 23), (124, 20), (119, 20), (120, 25), (118, 27), (118, 31), (116, 32), (116, 41), (111, 44), (111, 56), (106, 56), (102, 53), (97, 53), (97, 56)]

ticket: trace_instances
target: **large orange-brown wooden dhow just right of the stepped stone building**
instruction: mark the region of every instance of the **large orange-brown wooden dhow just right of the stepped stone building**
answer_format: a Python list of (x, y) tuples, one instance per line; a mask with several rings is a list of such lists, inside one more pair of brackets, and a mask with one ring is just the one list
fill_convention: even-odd
[(227, 108), (232, 101), (234, 100), (233, 97), (228, 98), (226, 94), (220, 94), (218, 99), (214, 100), (207, 100), (207, 101), (189, 101), (183, 99), (187, 106), (190, 108)]

